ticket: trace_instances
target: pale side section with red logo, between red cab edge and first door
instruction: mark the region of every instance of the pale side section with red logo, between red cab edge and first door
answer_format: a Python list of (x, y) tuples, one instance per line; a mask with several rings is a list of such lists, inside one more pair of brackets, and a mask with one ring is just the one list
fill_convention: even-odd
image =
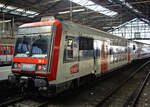
[[(84, 40), (84, 38), (82, 39)], [(89, 41), (93, 40), (89, 39)], [(92, 73), (94, 69), (93, 50), (79, 49), (81, 48), (79, 47), (79, 32), (63, 25), (60, 46), (57, 83), (63, 83)]]

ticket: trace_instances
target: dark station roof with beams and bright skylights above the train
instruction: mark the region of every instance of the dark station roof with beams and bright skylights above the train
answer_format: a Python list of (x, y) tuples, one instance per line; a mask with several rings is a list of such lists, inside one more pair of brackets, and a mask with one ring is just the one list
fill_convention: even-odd
[(149, 9), (149, 0), (0, 0), (0, 19), (27, 23), (54, 16), (108, 31), (134, 18), (149, 24)]

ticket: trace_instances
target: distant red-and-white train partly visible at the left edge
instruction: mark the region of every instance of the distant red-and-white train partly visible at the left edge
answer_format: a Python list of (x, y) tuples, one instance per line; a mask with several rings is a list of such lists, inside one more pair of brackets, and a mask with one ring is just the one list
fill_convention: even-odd
[(0, 44), (0, 65), (11, 64), (13, 48), (13, 44)]

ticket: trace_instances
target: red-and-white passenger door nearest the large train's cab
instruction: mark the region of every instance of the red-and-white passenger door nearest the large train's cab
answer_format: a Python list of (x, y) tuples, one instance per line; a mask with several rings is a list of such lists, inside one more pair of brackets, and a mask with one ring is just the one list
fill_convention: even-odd
[(108, 70), (108, 43), (103, 41), (101, 46), (101, 72), (104, 73)]

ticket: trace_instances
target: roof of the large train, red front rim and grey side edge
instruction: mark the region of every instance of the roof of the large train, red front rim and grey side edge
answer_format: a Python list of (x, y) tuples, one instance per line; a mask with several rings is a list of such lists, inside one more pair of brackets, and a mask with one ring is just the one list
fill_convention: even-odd
[[(66, 26), (68, 26), (69, 29), (73, 29), (73, 30), (75, 30), (75, 29), (79, 30), (79, 31), (80, 30), (84, 30), (84, 31), (86, 31), (88, 33), (92, 33), (92, 34), (93, 33), (94, 34), (101, 33), (101, 36), (103, 36), (105, 38), (122, 39), (122, 40), (129, 41), (129, 42), (146, 44), (146, 43), (142, 43), (142, 42), (127, 40), (127, 39), (125, 39), (123, 37), (116, 36), (116, 35), (110, 34), (108, 32), (104, 32), (102, 30), (99, 30), (99, 29), (96, 29), (96, 28), (92, 28), (92, 27), (89, 27), (89, 26), (85, 26), (85, 25), (81, 25), (81, 24), (76, 24), (76, 23), (73, 23), (73, 22), (70, 22), (70, 21), (51, 20), (51, 21), (33, 22), (33, 23), (23, 24), (23, 25), (19, 26), (19, 28), (22, 28), (22, 27), (31, 27), (31, 26), (50, 25), (50, 24), (55, 24), (56, 22), (60, 22), (61, 24), (65, 24)], [(70, 27), (70, 26), (72, 26), (72, 27)], [(147, 45), (149, 45), (149, 44), (147, 44)]]

